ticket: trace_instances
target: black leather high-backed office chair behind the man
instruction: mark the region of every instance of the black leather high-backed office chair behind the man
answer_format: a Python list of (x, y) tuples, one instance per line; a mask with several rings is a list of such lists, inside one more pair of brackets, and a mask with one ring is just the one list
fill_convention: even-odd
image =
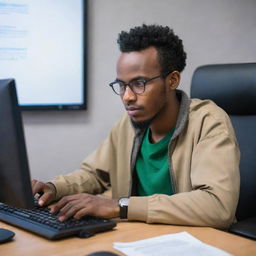
[(237, 223), (229, 231), (256, 240), (256, 63), (198, 67), (191, 98), (210, 99), (233, 124), (241, 151)]

